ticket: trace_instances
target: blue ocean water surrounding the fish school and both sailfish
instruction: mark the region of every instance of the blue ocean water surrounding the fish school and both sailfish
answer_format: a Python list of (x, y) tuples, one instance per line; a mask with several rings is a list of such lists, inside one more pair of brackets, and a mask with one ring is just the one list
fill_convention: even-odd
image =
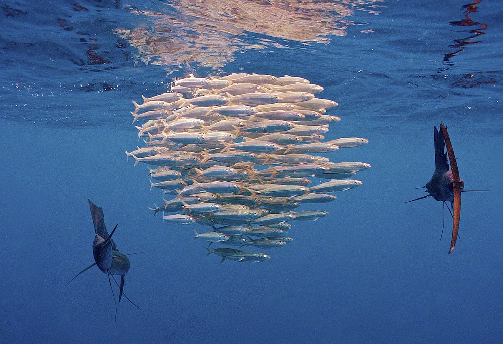
[[(262, 47), (221, 67), (189, 53), (176, 68), (145, 64), (115, 30), (150, 28), (145, 11), (176, 17), (175, 3), (0, 2), (0, 341), (500, 342), (501, 3), (363, 2), (328, 44), (246, 31), (239, 42)], [(295, 241), (268, 262), (205, 258), (192, 228), (152, 218), (160, 193), (124, 154), (137, 144), (131, 100), (188, 72), (323, 85), (342, 118), (326, 138), (370, 141), (327, 155), (370, 163), (363, 185), (293, 223)], [(414, 188), (433, 173), (441, 121), (465, 187), (490, 190), (463, 194), (450, 255), (440, 202), (404, 204), (424, 195)], [(98, 269), (65, 286), (93, 261), (88, 198), (109, 229), (119, 222), (121, 251), (148, 251), (126, 275), (141, 310), (123, 300), (117, 321)]]

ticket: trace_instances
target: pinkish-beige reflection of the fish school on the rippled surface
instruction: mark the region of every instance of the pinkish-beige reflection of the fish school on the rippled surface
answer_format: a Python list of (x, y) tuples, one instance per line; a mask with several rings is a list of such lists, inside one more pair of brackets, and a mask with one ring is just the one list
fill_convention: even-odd
[[(380, 1), (349, 0), (343, 4), (314, 0), (176, 0), (162, 12), (131, 8), (132, 13), (143, 16), (141, 22), (149, 25), (117, 28), (115, 33), (136, 47), (136, 57), (146, 64), (173, 68), (197, 63), (219, 68), (234, 60), (237, 51), (266, 46), (287, 48), (283, 40), (302, 42), (303, 45), (309, 45), (309, 42), (327, 44), (330, 36), (346, 34), (347, 27), (354, 24), (349, 17), (354, 12), (377, 15), (373, 3)], [(166, 27), (170, 27), (169, 32)], [(246, 38), (249, 33), (273, 39), (258, 38), (257, 44), (250, 44)], [(191, 44), (187, 44), (188, 41)], [(180, 92), (179, 89), (176, 91)]]

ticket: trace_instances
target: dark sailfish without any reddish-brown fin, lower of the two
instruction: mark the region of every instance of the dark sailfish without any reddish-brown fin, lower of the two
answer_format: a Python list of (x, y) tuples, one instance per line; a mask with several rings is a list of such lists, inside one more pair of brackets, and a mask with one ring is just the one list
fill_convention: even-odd
[[(73, 277), (68, 283), (73, 281), (77, 276), (85, 272), (86, 270), (94, 267), (95, 265), (98, 266), (98, 268), (107, 274), (108, 276), (108, 283), (110, 285), (110, 289), (112, 290), (112, 295), (114, 296), (114, 304), (115, 304), (115, 295), (114, 295), (114, 290), (112, 288), (112, 283), (110, 281), (110, 275), (112, 275), (112, 278), (114, 279), (114, 282), (117, 284), (117, 281), (115, 281), (115, 278), (113, 275), (120, 275), (121, 277), (121, 282), (120, 282), (120, 290), (119, 290), (119, 302), (121, 302), (122, 295), (131, 302), (134, 306), (138, 307), (133, 301), (131, 301), (126, 294), (124, 294), (124, 277), (126, 273), (129, 271), (129, 268), (131, 266), (131, 263), (129, 262), (129, 259), (126, 254), (123, 254), (119, 251), (117, 248), (117, 245), (115, 244), (114, 240), (112, 239), (112, 236), (115, 233), (115, 230), (117, 229), (117, 226), (119, 225), (118, 223), (115, 225), (114, 229), (108, 234), (107, 227), (105, 227), (105, 218), (103, 216), (103, 209), (96, 206), (93, 202), (88, 200), (89, 202), (89, 209), (91, 210), (91, 217), (93, 218), (93, 225), (95, 229), (95, 238), (93, 240), (93, 257), (95, 262), (86, 268), (84, 268), (82, 271), (80, 271), (75, 277)], [(68, 285), (66, 283), (66, 285)], [(115, 317), (117, 318), (117, 304), (115, 304)]]

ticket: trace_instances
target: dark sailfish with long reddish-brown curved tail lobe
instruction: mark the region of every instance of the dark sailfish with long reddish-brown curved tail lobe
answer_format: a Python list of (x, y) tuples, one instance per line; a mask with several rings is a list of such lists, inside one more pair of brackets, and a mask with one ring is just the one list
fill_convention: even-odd
[[(463, 190), (465, 184), (459, 177), (458, 164), (454, 156), (454, 150), (452, 149), (451, 139), (447, 132), (447, 128), (442, 123), (440, 123), (440, 130), (438, 130), (436, 126), (433, 127), (433, 141), (435, 148), (435, 171), (428, 183), (421, 187), (426, 188), (428, 195), (405, 203), (421, 200), (430, 196), (437, 201), (444, 202), (444, 205), (447, 205), (446, 202), (451, 202), (451, 209), (447, 207), (453, 218), (451, 246), (448, 252), (450, 254), (458, 238), (459, 219), (461, 214), (461, 192), (487, 190)], [(447, 149), (447, 152), (444, 147)], [(449, 169), (449, 164), (447, 162), (448, 156), (451, 169)], [(444, 227), (442, 226), (442, 230), (443, 229)]]

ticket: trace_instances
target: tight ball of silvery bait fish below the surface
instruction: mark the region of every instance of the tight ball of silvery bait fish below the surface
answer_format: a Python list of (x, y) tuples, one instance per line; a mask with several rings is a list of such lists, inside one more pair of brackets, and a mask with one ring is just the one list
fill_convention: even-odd
[(220, 263), (268, 260), (266, 253), (237, 248), (287, 245), (291, 221), (328, 214), (298, 210), (302, 203), (333, 201), (332, 193), (361, 185), (349, 178), (370, 167), (318, 155), (368, 143), (322, 142), (340, 118), (326, 115), (338, 104), (316, 98), (321, 91), (301, 77), (236, 73), (179, 79), (170, 92), (133, 101), (133, 123), (146, 120), (136, 127), (146, 147), (126, 154), (135, 165), (152, 166), (151, 188), (164, 192), (154, 214), (162, 212), (170, 224), (211, 228), (194, 231), (194, 239), (236, 247), (207, 248)]

